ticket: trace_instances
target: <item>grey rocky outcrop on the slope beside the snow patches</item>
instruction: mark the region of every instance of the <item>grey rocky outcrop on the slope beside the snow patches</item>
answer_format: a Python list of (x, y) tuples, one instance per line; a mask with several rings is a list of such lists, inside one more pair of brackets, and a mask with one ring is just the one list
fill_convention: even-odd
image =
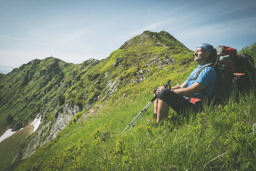
[(66, 127), (72, 117), (80, 111), (82, 111), (82, 108), (78, 105), (73, 103), (64, 104), (61, 109), (55, 112), (54, 120), (40, 125), (31, 140), (27, 141), (27, 147), (22, 152), (22, 159), (30, 157), (40, 146), (53, 140)]

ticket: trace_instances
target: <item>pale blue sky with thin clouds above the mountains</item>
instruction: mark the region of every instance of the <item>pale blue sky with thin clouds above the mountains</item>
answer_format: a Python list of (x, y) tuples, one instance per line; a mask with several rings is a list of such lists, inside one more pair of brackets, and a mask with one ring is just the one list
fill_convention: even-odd
[(145, 30), (169, 32), (190, 50), (256, 42), (255, 0), (0, 0), (0, 16), (1, 66), (105, 59)]

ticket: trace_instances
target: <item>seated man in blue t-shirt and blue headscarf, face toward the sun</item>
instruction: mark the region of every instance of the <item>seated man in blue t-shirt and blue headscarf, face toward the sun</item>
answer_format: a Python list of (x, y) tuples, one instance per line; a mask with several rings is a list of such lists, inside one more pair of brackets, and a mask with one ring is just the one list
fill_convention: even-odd
[[(157, 95), (154, 101), (154, 116), (157, 117), (157, 126), (164, 119), (169, 111), (169, 106), (174, 111), (182, 114), (192, 109), (194, 112), (200, 111), (202, 99), (212, 96), (213, 88), (216, 83), (216, 71), (212, 67), (205, 67), (196, 79), (197, 71), (209, 62), (213, 54), (213, 46), (208, 43), (201, 43), (197, 46), (194, 53), (194, 60), (198, 67), (189, 75), (189, 78), (180, 86), (167, 89), (157, 87), (153, 92)], [(189, 97), (189, 98), (185, 98)]]

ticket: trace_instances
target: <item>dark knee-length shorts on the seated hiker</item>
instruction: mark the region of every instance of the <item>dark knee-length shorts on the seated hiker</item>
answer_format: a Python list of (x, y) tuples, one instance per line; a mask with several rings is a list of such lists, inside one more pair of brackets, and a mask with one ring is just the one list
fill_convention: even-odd
[[(153, 90), (155, 94), (157, 88)], [(185, 99), (185, 97), (178, 95), (176, 92), (173, 92), (167, 88), (161, 89), (157, 95), (157, 98), (167, 103), (174, 111), (180, 114), (185, 114), (189, 111), (199, 112), (201, 110), (201, 105), (190, 103), (190, 101)]]

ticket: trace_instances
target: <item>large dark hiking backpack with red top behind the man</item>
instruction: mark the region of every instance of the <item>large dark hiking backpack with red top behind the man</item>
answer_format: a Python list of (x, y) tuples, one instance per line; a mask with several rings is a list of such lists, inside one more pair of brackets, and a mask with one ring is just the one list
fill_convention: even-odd
[(253, 86), (256, 70), (253, 58), (247, 54), (237, 55), (235, 48), (228, 46), (214, 48), (210, 63), (205, 64), (197, 72), (196, 79), (205, 67), (212, 67), (216, 71), (216, 84), (209, 99), (214, 100), (214, 104), (223, 104), (234, 90), (242, 91)]

